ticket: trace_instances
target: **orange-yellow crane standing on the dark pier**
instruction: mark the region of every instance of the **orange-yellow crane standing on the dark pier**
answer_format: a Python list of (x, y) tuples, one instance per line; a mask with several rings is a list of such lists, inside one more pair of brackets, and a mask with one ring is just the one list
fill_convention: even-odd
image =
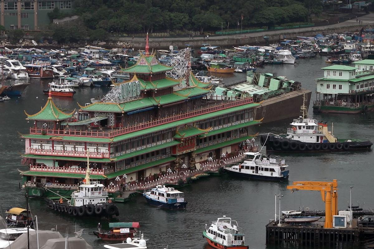
[(338, 214), (338, 181), (314, 182), (300, 181), (293, 182), (287, 189), (295, 190), (315, 190), (321, 192), (322, 201), (325, 202), (325, 225), (324, 228), (332, 228), (332, 217)]

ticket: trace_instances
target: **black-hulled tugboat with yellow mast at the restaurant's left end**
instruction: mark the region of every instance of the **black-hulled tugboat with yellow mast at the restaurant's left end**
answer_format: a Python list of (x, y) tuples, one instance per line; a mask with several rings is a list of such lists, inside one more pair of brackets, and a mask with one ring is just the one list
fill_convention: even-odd
[(64, 202), (62, 197), (59, 201), (53, 202), (46, 198), (49, 208), (74, 216), (118, 216), (118, 208), (115, 204), (108, 202), (108, 192), (104, 192), (104, 185), (99, 182), (90, 182), (89, 173), (89, 152), (87, 151), (86, 177), (79, 190), (71, 193), (71, 200)]

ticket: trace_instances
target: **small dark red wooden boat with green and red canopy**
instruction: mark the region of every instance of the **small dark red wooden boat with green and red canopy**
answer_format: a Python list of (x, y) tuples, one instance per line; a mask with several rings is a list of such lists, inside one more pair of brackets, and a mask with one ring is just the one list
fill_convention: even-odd
[(137, 235), (139, 222), (115, 222), (109, 223), (109, 231), (94, 231), (98, 238), (102, 240), (125, 240), (134, 238)]

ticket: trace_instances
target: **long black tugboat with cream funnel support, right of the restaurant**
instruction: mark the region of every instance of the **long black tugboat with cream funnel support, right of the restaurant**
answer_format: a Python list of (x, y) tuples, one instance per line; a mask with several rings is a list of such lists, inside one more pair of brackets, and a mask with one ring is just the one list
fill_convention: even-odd
[(293, 120), (286, 136), (270, 133), (261, 135), (261, 145), (266, 145), (267, 151), (348, 151), (370, 149), (373, 145), (372, 142), (364, 139), (337, 139), (332, 131), (328, 131), (327, 122), (318, 122), (308, 117), (305, 104), (301, 105), (300, 109), (303, 115)]

